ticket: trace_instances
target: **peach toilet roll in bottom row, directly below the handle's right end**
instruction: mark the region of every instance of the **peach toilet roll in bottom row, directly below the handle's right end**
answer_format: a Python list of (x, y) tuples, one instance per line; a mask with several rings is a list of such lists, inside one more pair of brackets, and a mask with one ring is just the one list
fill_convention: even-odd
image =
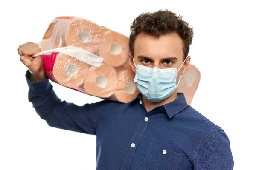
[(99, 67), (90, 67), (87, 79), (84, 81), (84, 91), (91, 96), (108, 98), (116, 90), (116, 70), (105, 63)]

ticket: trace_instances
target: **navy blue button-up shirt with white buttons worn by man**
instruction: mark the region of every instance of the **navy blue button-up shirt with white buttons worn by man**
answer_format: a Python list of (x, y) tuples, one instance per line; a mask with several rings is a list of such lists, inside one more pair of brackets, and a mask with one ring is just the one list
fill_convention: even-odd
[(61, 101), (48, 78), (30, 82), (29, 101), (49, 126), (97, 136), (97, 170), (233, 170), (224, 130), (184, 94), (147, 112), (140, 95), (126, 104)]

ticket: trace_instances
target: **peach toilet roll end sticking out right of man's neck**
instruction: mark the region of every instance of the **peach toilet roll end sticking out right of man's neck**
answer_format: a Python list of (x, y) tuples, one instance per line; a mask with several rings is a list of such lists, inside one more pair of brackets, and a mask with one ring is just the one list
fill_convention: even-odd
[(177, 92), (184, 93), (188, 105), (191, 104), (195, 92), (198, 89), (200, 78), (201, 74), (198, 68), (190, 64), (189, 69), (180, 79)]

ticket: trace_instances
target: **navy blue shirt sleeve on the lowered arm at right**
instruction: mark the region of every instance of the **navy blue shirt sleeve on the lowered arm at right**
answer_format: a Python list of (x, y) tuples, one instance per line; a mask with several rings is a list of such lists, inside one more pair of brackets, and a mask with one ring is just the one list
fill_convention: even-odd
[(233, 170), (230, 141), (223, 130), (212, 132), (194, 156), (194, 170)]

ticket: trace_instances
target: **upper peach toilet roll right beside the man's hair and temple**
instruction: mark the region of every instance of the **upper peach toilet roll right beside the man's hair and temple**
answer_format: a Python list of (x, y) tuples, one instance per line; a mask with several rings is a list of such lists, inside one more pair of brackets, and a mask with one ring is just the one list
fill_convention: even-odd
[(125, 64), (129, 57), (129, 39), (116, 31), (101, 26), (103, 40), (99, 45), (99, 56), (113, 67)]

